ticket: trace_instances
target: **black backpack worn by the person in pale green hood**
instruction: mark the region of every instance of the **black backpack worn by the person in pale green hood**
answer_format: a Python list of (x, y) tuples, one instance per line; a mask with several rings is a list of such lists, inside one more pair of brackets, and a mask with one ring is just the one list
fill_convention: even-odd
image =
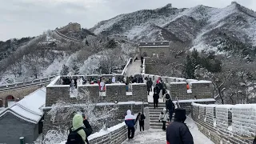
[(82, 137), (80, 134), (78, 134), (78, 131), (82, 130), (82, 127), (79, 127), (77, 130), (72, 131), (70, 129), (70, 134), (67, 138), (66, 144), (84, 144), (85, 142), (82, 140)]

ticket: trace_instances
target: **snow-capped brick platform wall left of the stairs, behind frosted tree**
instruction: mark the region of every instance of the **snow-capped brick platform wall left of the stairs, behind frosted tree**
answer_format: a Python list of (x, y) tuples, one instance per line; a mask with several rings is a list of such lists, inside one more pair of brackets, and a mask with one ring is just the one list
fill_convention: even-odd
[[(46, 134), (48, 130), (54, 130), (54, 126), (63, 124), (62, 122), (64, 120), (60, 120), (59, 122), (50, 121), (50, 115), (48, 115), (47, 112), (51, 109), (53, 104), (60, 99), (65, 102), (76, 102), (74, 95), (70, 94), (69, 85), (58, 85), (59, 78), (60, 77), (55, 78), (50, 85), (46, 86), (46, 107), (44, 108), (45, 117), (43, 134)], [(101, 92), (98, 84), (82, 86), (78, 85), (78, 93), (83, 93), (84, 90), (88, 90), (91, 101), (95, 103), (97, 102), (96, 109), (105, 105), (110, 107), (118, 107), (115, 119), (109, 120), (109, 126), (114, 126), (117, 124), (118, 119), (123, 120), (126, 110), (132, 110), (133, 113), (138, 113), (142, 111), (143, 106), (148, 106), (146, 84), (134, 83), (131, 85), (131, 87), (132, 91), (126, 92), (126, 85), (123, 83), (106, 84), (106, 92)], [(61, 119), (61, 117), (57, 119)], [(64, 122), (68, 122), (68, 125), (71, 126), (71, 119), (72, 118), (67, 118)], [(94, 128), (94, 131), (97, 130), (98, 128)]]

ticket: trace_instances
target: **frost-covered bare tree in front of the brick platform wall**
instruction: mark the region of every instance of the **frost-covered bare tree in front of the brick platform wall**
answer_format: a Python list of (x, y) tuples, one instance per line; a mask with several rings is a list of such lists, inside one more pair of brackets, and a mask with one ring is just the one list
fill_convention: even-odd
[(118, 110), (115, 107), (106, 106), (106, 104), (98, 106), (98, 98), (92, 97), (87, 89), (79, 90), (78, 93), (71, 93), (71, 96), (74, 97), (73, 100), (58, 100), (47, 113), (50, 114), (50, 120), (52, 122), (61, 119), (65, 123), (57, 126), (56, 130), (49, 130), (43, 143), (60, 143), (63, 139), (66, 139), (69, 126), (69, 121), (66, 121), (66, 119), (73, 118), (74, 114), (83, 113), (90, 121), (91, 126), (102, 128), (106, 127), (106, 119), (114, 119), (116, 110)]

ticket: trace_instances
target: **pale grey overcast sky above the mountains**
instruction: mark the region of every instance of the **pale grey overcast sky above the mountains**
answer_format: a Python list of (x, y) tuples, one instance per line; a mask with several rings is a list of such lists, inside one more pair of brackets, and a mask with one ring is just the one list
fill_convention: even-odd
[[(256, 0), (237, 0), (256, 10)], [(206, 5), (226, 7), (231, 0), (0, 0), (0, 41), (36, 36), (78, 22), (90, 28), (97, 22), (135, 10)]]

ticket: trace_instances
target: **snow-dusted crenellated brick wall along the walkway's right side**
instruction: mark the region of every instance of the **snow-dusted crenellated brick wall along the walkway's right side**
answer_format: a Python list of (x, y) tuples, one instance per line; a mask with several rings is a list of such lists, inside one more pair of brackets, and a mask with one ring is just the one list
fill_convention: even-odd
[(252, 144), (256, 136), (256, 104), (193, 103), (191, 116), (198, 129), (214, 143)]

